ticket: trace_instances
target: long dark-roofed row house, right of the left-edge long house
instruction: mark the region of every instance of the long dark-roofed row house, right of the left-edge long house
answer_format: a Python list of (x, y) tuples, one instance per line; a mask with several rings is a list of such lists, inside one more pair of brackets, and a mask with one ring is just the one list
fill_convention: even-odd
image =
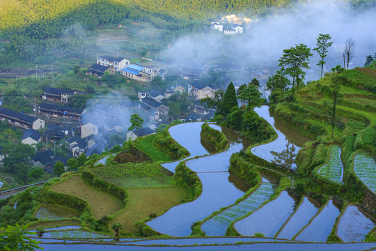
[(55, 118), (77, 121), (81, 121), (81, 116), (86, 114), (85, 109), (47, 103), (41, 103), (38, 107), (38, 112), (42, 116), (53, 116)]

